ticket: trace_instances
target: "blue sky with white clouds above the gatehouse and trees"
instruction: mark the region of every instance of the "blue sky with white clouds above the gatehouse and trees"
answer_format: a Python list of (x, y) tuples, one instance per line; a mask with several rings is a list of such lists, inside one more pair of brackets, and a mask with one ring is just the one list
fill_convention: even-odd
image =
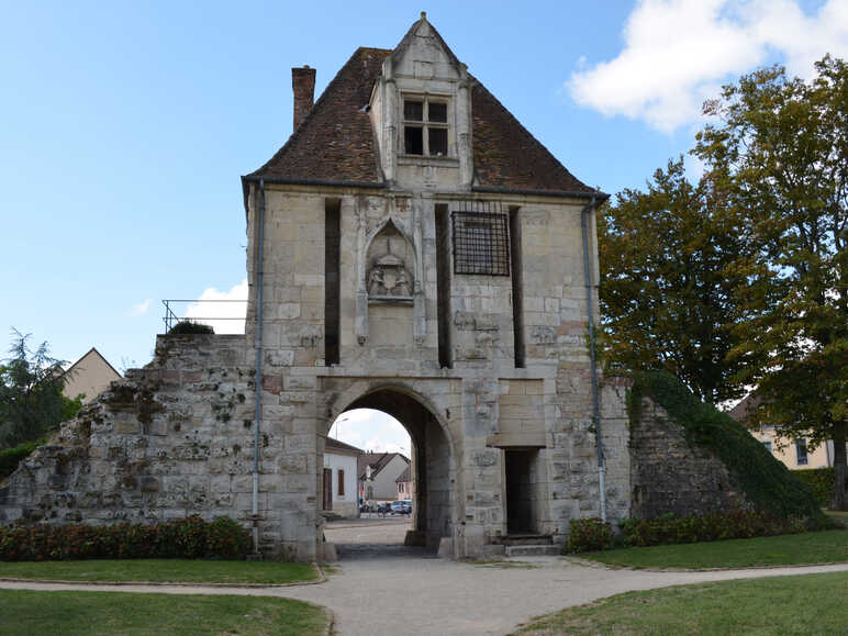
[(96, 346), (141, 366), (160, 299), (238, 294), (238, 178), (291, 133), (291, 67), (317, 69), (317, 94), (422, 9), (569, 170), (612, 193), (690, 148), (723, 82), (848, 57), (844, 0), (0, 1), (0, 330), (62, 359)]

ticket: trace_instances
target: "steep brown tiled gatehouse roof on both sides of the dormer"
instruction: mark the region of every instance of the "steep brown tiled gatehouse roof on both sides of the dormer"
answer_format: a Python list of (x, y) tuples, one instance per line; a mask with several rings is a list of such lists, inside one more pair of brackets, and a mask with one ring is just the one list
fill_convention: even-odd
[[(293, 182), (382, 185), (375, 132), (365, 107), (386, 48), (358, 48), (327, 85), (289, 141), (248, 178)], [(471, 93), (477, 187), (595, 192), (571, 175), (486, 87)]]

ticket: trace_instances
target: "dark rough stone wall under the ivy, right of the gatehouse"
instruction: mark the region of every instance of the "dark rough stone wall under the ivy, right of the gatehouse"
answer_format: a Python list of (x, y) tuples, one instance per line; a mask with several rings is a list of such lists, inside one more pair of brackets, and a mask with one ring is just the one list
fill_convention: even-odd
[(633, 515), (652, 518), (749, 507), (730, 483), (727, 468), (708, 450), (690, 444), (683, 428), (645, 398), (631, 423)]

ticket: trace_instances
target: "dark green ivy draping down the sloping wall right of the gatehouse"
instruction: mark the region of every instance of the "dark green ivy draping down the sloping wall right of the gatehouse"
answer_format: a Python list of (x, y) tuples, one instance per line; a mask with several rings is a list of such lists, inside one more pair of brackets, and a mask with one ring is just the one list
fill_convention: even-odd
[(813, 491), (727, 413), (701, 402), (665, 371), (639, 371), (633, 379), (627, 403), (632, 425), (638, 426), (641, 398), (651, 398), (683, 428), (690, 444), (706, 448), (724, 462), (734, 486), (756, 510), (822, 522)]

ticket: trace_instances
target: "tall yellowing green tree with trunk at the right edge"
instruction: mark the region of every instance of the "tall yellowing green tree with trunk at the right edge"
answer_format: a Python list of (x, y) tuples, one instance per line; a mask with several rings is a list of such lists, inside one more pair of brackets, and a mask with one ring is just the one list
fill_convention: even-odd
[(848, 67), (826, 56), (816, 69), (810, 82), (776, 66), (725, 87), (693, 153), (745, 220), (737, 381), (757, 386), (757, 423), (834, 440), (834, 505), (846, 510)]

